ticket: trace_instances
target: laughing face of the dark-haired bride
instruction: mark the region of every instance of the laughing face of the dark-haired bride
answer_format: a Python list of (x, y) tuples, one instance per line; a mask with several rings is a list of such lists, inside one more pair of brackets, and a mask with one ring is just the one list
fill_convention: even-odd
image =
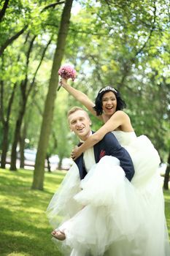
[(107, 116), (112, 116), (116, 112), (117, 99), (113, 91), (106, 92), (102, 97), (102, 108)]

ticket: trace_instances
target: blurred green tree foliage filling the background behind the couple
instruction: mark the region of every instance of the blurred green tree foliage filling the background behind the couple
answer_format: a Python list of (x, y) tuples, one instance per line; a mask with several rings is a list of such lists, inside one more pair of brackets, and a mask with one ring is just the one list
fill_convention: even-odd
[[(36, 76), (35, 88), (28, 99), (25, 117), (27, 137), (30, 140), (28, 146), (36, 147), (39, 140), (56, 34), (63, 9), (63, 4), (45, 8), (49, 4), (50, 0), (9, 1), (0, 24), (0, 45), (28, 25), (26, 31), (6, 48), (0, 59), (5, 111), (12, 87), (15, 83), (18, 85), (10, 118), (10, 143), (20, 106), (20, 82), (28, 73), (28, 84), (31, 83), (45, 45), (53, 36)], [(125, 111), (131, 117), (136, 134), (147, 135), (163, 161), (166, 161), (169, 154), (167, 138), (170, 104), (168, 1), (88, 0), (74, 1), (74, 7), (80, 8), (78, 12), (72, 12), (63, 64), (74, 64), (77, 70), (75, 88), (88, 94), (92, 100), (102, 86), (110, 84), (120, 89), (127, 103)], [(34, 35), (36, 39), (27, 69), (26, 53)], [(77, 140), (69, 132), (66, 112), (73, 105), (80, 104), (63, 89), (57, 97), (48, 151), (50, 154), (69, 157)], [(96, 118), (92, 117), (92, 121), (93, 129), (101, 126)]]

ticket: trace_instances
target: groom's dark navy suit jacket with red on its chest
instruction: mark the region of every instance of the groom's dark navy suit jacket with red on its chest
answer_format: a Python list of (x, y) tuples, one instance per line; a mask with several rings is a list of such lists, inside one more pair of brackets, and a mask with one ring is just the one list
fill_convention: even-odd
[[(107, 135), (105, 135), (101, 141), (93, 146), (93, 148), (96, 162), (99, 162), (101, 157), (104, 156), (117, 157), (117, 159), (120, 160), (120, 166), (125, 172), (125, 177), (131, 181), (134, 176), (133, 162), (130, 155), (128, 154), (128, 151), (120, 146), (120, 143), (118, 143), (117, 138), (115, 138), (115, 135), (113, 135), (112, 132), (107, 133)], [(83, 154), (78, 157), (75, 162), (79, 168), (80, 179), (85, 178), (87, 172), (85, 170)]]

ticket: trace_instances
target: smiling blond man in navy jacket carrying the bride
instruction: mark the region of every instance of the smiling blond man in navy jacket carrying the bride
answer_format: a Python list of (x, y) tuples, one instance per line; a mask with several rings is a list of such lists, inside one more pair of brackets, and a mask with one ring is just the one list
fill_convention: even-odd
[[(91, 121), (88, 113), (82, 108), (74, 107), (69, 110), (68, 121), (70, 129), (80, 138), (82, 143), (93, 133), (90, 129)], [(128, 151), (120, 146), (112, 132), (107, 133), (101, 141), (75, 160), (79, 168), (80, 179), (85, 178), (87, 169), (90, 170), (90, 167), (99, 162), (101, 157), (104, 156), (112, 156), (119, 159), (120, 167), (123, 168), (125, 177), (128, 178), (128, 181), (131, 181), (134, 176), (133, 162)]]

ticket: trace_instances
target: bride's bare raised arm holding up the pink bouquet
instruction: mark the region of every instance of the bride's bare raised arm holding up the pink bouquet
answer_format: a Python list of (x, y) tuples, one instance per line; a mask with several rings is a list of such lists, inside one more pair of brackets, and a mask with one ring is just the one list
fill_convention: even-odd
[[(61, 86), (66, 89), (66, 91), (68, 91), (69, 94), (71, 94), (75, 99), (82, 103), (82, 105), (84, 105), (85, 108), (87, 108), (90, 113), (93, 114), (93, 116), (96, 116), (96, 110), (93, 109), (95, 104), (88, 98), (86, 94), (70, 86), (65, 78), (61, 78)], [(102, 120), (101, 116), (96, 117)]]

